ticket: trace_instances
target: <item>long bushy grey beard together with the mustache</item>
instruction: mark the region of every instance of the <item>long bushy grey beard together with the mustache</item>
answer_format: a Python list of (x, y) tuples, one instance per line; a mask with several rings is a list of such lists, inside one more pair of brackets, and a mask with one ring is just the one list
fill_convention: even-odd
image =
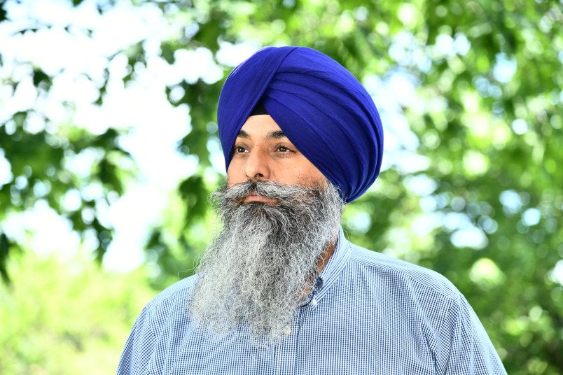
[[(241, 204), (251, 191), (278, 203)], [(319, 260), (338, 239), (338, 190), (328, 181), (326, 187), (249, 181), (223, 187), (211, 199), (223, 225), (197, 267), (190, 317), (218, 338), (277, 344)]]

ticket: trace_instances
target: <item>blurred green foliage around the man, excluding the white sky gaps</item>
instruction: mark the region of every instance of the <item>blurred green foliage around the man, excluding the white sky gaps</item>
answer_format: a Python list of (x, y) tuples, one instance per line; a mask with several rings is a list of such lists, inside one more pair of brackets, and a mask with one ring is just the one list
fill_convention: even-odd
[[(99, 13), (119, 3), (100, 2)], [(401, 112), (428, 167), (409, 171), (391, 160), (373, 189), (347, 207), (345, 230), (361, 246), (447, 276), (480, 316), (509, 374), (563, 372), (561, 1), (202, 0), (134, 6), (162, 10), (171, 30), (160, 45), (167, 64), (174, 63), (177, 50), (206, 48), (216, 59), (222, 43), (252, 41), (316, 48), (364, 82), (396, 73), (414, 82), (415, 99)], [(6, 9), (0, 8), (0, 21), (15, 22)], [(49, 27), (36, 22), (20, 34)], [(452, 52), (444, 52), (443, 43), (454, 45)], [(146, 45), (139, 40), (123, 52), (130, 66), (127, 84), (147, 64)], [(6, 58), (0, 55), (0, 64)], [(18, 64), (31, 66), (39, 94), (48, 94), (56, 75), (31, 61)], [(224, 80), (232, 67), (219, 66)], [(501, 66), (515, 72), (505, 78)], [(123, 130), (110, 127), (95, 136), (70, 121), (55, 124), (55, 132), (27, 132), (33, 109), (0, 123), (0, 150), (14, 176), (0, 186), (2, 374), (110, 371), (140, 306), (176, 280), (179, 270), (191, 269), (212, 229), (207, 194), (218, 178), (209, 139), (217, 135), (209, 124), (216, 121), (223, 80), (184, 80), (166, 88), (167, 94), (183, 90), (183, 97), (170, 100), (190, 108), (192, 129), (179, 150), (197, 156), (199, 165), (179, 183), (167, 217), (147, 237), (148, 262), (160, 270), (151, 276), (104, 274), (84, 260), (84, 271), (65, 273), (67, 266), (37, 260), (2, 226), (11, 213), (47, 201), (79, 234), (93, 230), (95, 258), (102, 260), (112, 228), (82, 214), (96, 202), (83, 199), (69, 211), (62, 200), (68, 190), (92, 182), (102, 185), (108, 203), (123, 194), (136, 178), (130, 155), (116, 142)], [(2, 86), (19, 84), (0, 78)], [(106, 85), (99, 87), (92, 106), (104, 103), (105, 92)], [(72, 111), (72, 103), (65, 106)], [(74, 176), (65, 162), (87, 149), (99, 152), (99, 162), (87, 178)], [(27, 184), (15, 183), (19, 176)], [(433, 188), (412, 187), (420, 183)], [(48, 185), (48, 193), (38, 194), (36, 184)], [(435, 224), (420, 232), (421, 222)], [(483, 246), (454, 245), (467, 227), (486, 236)], [(73, 367), (86, 362), (100, 367)]]

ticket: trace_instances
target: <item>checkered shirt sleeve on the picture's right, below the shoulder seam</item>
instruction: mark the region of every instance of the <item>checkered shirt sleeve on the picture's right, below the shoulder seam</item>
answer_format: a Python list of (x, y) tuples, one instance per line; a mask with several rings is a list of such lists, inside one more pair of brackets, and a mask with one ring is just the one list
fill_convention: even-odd
[(447, 311), (440, 339), (443, 355), (439, 374), (506, 375), (485, 328), (462, 295)]

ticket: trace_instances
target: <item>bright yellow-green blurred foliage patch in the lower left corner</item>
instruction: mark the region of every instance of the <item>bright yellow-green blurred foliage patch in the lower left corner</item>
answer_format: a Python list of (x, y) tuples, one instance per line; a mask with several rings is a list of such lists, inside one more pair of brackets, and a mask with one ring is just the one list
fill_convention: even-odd
[(83, 255), (60, 262), (25, 253), (11, 262), (13, 283), (0, 285), (1, 374), (115, 372), (155, 291), (143, 269), (109, 274)]

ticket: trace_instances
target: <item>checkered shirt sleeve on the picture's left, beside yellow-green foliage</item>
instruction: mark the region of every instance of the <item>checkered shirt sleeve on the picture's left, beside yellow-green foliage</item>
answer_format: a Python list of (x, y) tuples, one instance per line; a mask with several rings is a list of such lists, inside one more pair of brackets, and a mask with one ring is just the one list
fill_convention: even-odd
[(135, 321), (133, 329), (121, 353), (117, 375), (148, 374), (157, 337), (151, 327), (150, 311), (146, 307)]

